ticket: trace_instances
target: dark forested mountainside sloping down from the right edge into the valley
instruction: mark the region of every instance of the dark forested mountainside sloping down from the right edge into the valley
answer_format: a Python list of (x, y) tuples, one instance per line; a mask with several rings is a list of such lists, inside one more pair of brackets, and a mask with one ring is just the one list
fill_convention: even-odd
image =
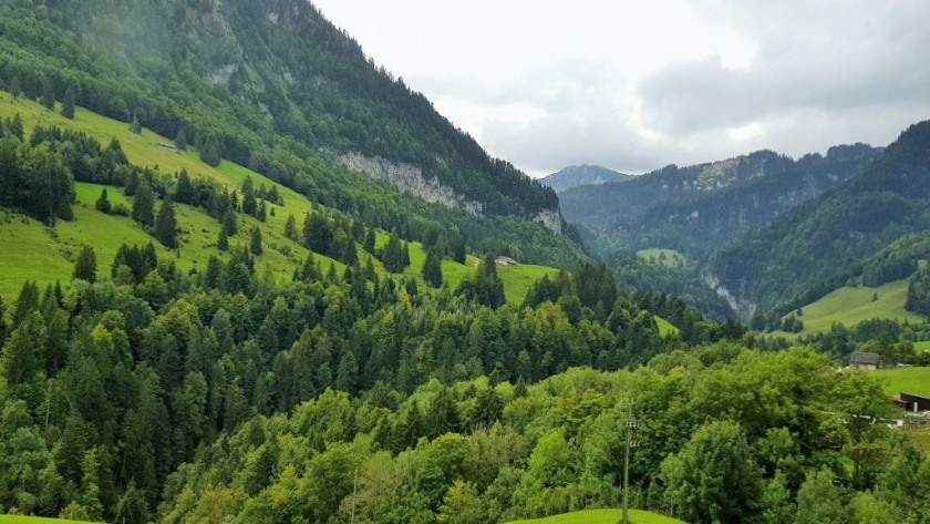
[[(787, 312), (855, 278), (903, 278), (928, 253), (899, 246), (897, 251), (908, 255), (892, 256), (882, 249), (930, 228), (928, 198), (930, 122), (922, 122), (901, 133), (861, 175), (715, 253), (707, 275), (744, 314)], [(900, 268), (880, 269), (899, 261), (903, 275)]]

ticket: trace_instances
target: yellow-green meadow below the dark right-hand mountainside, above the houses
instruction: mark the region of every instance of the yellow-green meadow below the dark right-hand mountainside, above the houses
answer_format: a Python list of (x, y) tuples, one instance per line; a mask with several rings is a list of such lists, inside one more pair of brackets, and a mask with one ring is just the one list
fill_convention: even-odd
[[(872, 297), (878, 295), (878, 300)], [(896, 280), (879, 287), (841, 287), (816, 302), (804, 306), (804, 330), (800, 335), (825, 332), (834, 322), (852, 327), (864, 320), (891, 319), (923, 322), (920, 315), (905, 309), (908, 280)], [(778, 331), (779, 335), (785, 335)]]

